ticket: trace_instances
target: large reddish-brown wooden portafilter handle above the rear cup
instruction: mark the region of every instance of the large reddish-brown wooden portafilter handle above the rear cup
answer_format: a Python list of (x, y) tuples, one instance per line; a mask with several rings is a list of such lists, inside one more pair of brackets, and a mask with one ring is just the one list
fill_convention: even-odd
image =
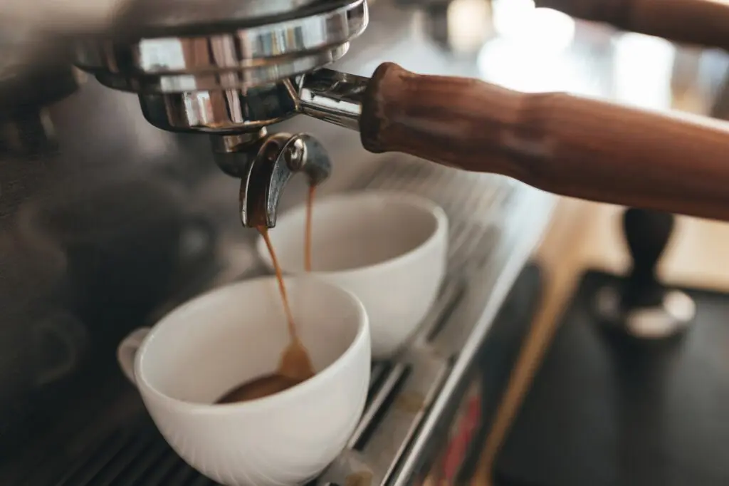
[(367, 85), (360, 133), (402, 152), (495, 172), (564, 196), (729, 220), (729, 123), (384, 63)]

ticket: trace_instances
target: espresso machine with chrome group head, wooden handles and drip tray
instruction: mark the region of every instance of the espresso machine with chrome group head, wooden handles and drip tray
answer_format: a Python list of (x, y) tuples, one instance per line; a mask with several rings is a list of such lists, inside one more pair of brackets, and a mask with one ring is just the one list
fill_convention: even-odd
[[(466, 428), (485, 428), (498, 399), (512, 356), (484, 350), (529, 320), (503, 304), (536, 300), (524, 265), (548, 192), (729, 219), (728, 124), (473, 80), (470, 61), (440, 54), (453, 3), (0, 7), (3, 484), (212, 484), (144, 417), (114, 347), (170, 306), (260, 272), (241, 223), (276, 225), (300, 182), (415, 191), (453, 223), (437, 303), (410, 349), (373, 363), (362, 422), (321, 484), (419, 482), (453, 454), (449, 474), (467, 470), (478, 434), (459, 453), (444, 438), (473, 403), (483, 413)], [(491, 18), (489, 2), (472, 3)], [(655, 18), (586, 3), (537, 7), (725, 47), (718, 2), (668, 1)], [(498, 359), (479, 365), (484, 355)]]

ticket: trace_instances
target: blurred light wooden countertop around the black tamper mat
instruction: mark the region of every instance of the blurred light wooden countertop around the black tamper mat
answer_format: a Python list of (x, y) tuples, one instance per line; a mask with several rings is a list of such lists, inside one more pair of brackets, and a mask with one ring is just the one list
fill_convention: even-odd
[[(628, 269), (628, 253), (620, 234), (622, 209), (570, 198), (559, 201), (534, 255), (544, 270), (542, 305), (512, 370), (472, 486), (491, 485), (494, 458), (582, 272), (588, 268)], [(659, 274), (665, 282), (729, 291), (729, 223), (678, 217)]]

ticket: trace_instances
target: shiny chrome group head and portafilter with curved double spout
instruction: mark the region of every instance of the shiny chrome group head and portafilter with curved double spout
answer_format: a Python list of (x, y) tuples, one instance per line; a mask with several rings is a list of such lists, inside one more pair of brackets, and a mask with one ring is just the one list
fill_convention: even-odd
[(73, 62), (109, 88), (136, 93), (165, 131), (208, 134), (225, 173), (241, 179), (241, 221), (276, 224), (292, 175), (317, 185), (331, 164), (306, 134), (270, 134), (297, 114), (357, 127), (367, 78), (322, 69), (367, 26), (365, 0), (133, 1), (103, 35), (74, 39)]

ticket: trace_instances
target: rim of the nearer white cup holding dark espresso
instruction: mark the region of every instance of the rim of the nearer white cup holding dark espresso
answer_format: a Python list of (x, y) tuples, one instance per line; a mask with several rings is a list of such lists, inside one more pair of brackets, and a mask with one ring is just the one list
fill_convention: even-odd
[[(176, 320), (176, 315), (181, 314), (183, 312), (187, 312), (190, 310), (190, 308), (195, 306), (202, 305), (208, 298), (211, 298), (211, 296), (218, 295), (219, 293), (238, 293), (243, 290), (243, 288), (246, 288), (248, 286), (253, 285), (263, 285), (264, 282), (273, 282), (276, 283), (276, 277), (275, 276), (264, 276), (264, 277), (257, 277), (254, 279), (246, 279), (242, 280), (240, 282), (234, 282), (228, 285), (224, 285), (219, 288), (214, 288), (212, 290), (208, 290), (206, 293), (202, 293), (199, 296), (190, 299), (189, 301), (184, 302), (184, 304), (181, 304), (180, 306), (177, 306), (175, 309), (173, 309), (171, 312), (168, 312), (167, 315), (162, 317), (162, 319), (158, 320), (155, 325), (152, 326), (151, 330), (145, 336), (144, 342), (142, 342), (141, 346), (136, 352), (136, 357), (134, 358), (134, 374), (136, 379), (137, 387), (139, 387), (140, 391), (144, 389), (145, 393), (151, 393), (155, 398), (158, 400), (163, 401), (168, 406), (175, 406), (177, 408), (183, 408), (190, 412), (197, 412), (197, 413), (213, 413), (213, 414), (220, 414), (220, 413), (230, 413), (232, 411), (235, 412), (257, 412), (260, 409), (265, 409), (268, 407), (271, 403), (274, 401), (296, 401), (298, 397), (302, 396), (303, 393), (308, 393), (308, 390), (311, 387), (319, 386), (320, 383), (323, 383), (327, 379), (329, 379), (332, 374), (334, 374), (338, 368), (340, 368), (340, 363), (344, 360), (349, 360), (351, 357), (356, 353), (356, 350), (359, 347), (362, 347), (363, 344), (369, 344), (370, 336), (369, 336), (369, 317), (367, 316), (367, 311), (364, 309), (364, 304), (362, 304), (362, 301), (359, 300), (359, 298), (354, 295), (354, 293), (351, 293), (348, 290), (345, 290), (343, 288), (340, 288), (338, 285), (330, 284), (329, 282), (324, 282), (321, 279), (313, 279), (312, 277), (309, 277), (308, 275), (299, 275), (299, 276), (286, 276), (284, 277), (284, 283), (288, 283), (292, 280), (298, 280), (302, 281), (305, 279), (311, 279), (311, 281), (316, 282), (316, 285), (323, 285), (325, 288), (329, 288), (330, 290), (334, 290), (335, 293), (340, 293), (345, 298), (347, 298), (351, 304), (353, 304), (354, 308), (359, 314), (359, 319), (357, 323), (357, 332), (354, 336), (354, 339), (352, 339), (352, 342), (349, 344), (346, 350), (344, 350), (343, 353), (339, 355), (337, 359), (335, 359), (332, 363), (330, 363), (328, 366), (326, 366), (324, 369), (316, 373), (313, 377), (305, 380), (304, 382), (299, 383), (298, 385), (295, 385), (293, 387), (290, 387), (284, 391), (274, 393), (270, 396), (265, 396), (262, 398), (256, 398), (251, 401), (244, 401), (240, 403), (233, 403), (233, 404), (199, 404), (191, 401), (184, 401), (180, 400), (179, 398), (174, 398), (171, 396), (166, 395), (165, 393), (162, 393), (160, 390), (157, 390), (156, 387), (152, 386), (149, 381), (144, 377), (144, 373), (141, 370), (141, 362), (144, 358), (144, 353), (147, 351), (147, 347), (152, 342), (153, 339), (155, 339), (155, 331), (157, 330), (157, 326), (160, 325), (170, 325), (170, 322), (174, 322)], [(339, 365), (339, 366), (338, 366)]]

